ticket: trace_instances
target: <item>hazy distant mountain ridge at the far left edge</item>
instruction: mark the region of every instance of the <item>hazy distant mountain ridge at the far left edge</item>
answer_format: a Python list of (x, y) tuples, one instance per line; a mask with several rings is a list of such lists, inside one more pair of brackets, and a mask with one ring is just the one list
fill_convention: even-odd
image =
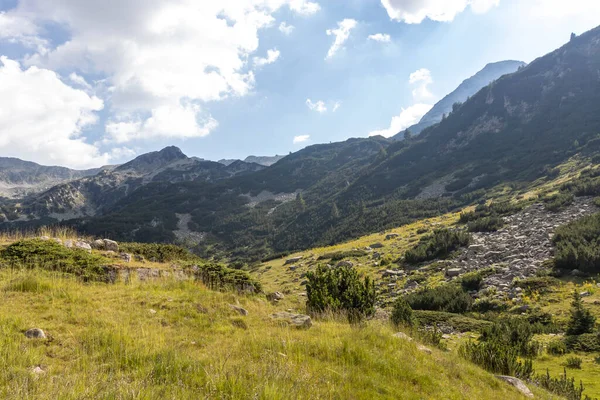
[(92, 176), (111, 167), (73, 170), (47, 167), (18, 158), (0, 157), (0, 196), (17, 198), (41, 192), (62, 182)]

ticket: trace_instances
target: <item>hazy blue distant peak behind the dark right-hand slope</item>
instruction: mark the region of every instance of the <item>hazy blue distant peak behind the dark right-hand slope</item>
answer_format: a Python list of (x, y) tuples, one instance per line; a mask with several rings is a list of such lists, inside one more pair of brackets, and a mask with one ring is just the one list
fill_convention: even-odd
[[(512, 74), (526, 64), (522, 61), (500, 61), (486, 65), (481, 71), (463, 81), (452, 93), (445, 96), (442, 100), (436, 103), (433, 108), (421, 118), (418, 124), (408, 128), (408, 130), (418, 135), (424, 129), (437, 124), (442, 120), (444, 115), (452, 112), (452, 107), (455, 103), (464, 103), (469, 97), (473, 96), (482, 88), (489, 85), (491, 82), (506, 74)], [(404, 132), (400, 132), (395, 136), (396, 139), (403, 139)]]

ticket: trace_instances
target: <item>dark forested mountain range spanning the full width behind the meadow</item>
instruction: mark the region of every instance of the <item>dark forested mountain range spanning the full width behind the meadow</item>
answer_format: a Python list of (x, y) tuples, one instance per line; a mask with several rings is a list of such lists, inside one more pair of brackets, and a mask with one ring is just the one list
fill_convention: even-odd
[(313, 145), (268, 167), (168, 147), (0, 199), (0, 228), (60, 222), (148, 242), (192, 232), (203, 238), (193, 246), (205, 257), (245, 260), (338, 243), (485, 201), (490, 188), (525, 185), (576, 154), (594, 156), (598, 71), (600, 28), (490, 84), (482, 74), (481, 90), (409, 140)]

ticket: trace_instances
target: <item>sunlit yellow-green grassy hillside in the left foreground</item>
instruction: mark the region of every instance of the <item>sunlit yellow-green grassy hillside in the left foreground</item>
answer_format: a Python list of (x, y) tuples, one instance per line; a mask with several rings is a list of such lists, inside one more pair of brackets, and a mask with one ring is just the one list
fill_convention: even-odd
[[(394, 337), (387, 320), (350, 326), (328, 318), (300, 330), (271, 318), (304, 311), (287, 298), (273, 305), (264, 295), (173, 277), (83, 283), (2, 265), (2, 398), (522, 398), (453, 353)], [(26, 338), (31, 328), (47, 338)]]

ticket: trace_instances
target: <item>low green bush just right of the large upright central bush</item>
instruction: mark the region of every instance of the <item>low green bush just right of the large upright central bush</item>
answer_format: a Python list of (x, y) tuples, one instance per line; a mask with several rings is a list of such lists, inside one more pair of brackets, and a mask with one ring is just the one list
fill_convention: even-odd
[(473, 298), (458, 285), (424, 288), (405, 297), (413, 310), (445, 311), (455, 314), (471, 309)]

